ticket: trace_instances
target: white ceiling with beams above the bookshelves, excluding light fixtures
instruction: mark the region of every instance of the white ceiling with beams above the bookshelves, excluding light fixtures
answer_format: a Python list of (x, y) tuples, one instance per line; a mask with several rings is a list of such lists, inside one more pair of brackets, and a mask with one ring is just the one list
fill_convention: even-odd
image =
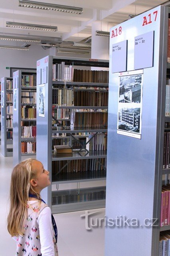
[[(18, 0), (0, 0), (0, 35), (30, 36), (53, 42), (57, 41), (55, 38), (61, 38), (63, 41), (79, 42), (91, 36), (92, 22), (100, 22), (101, 27), (102, 22), (107, 24), (109, 31), (112, 26), (127, 20), (129, 14), (140, 14), (162, 4), (165, 0), (40, 0), (40, 2), (82, 7), (83, 14), (24, 8), (18, 6)], [(57, 26), (58, 31), (41, 32), (6, 28), (6, 21)], [(0, 40), (0, 44), (8, 45), (9, 42)], [(15, 42), (12, 44), (14, 45)]]

